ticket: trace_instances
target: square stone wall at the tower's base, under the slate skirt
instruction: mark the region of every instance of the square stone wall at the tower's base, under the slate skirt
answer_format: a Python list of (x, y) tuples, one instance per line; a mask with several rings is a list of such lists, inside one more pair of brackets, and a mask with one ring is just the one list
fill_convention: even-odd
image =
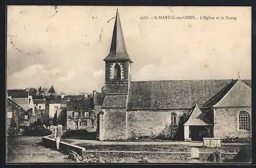
[[(100, 126), (103, 139), (126, 139), (126, 109), (102, 109), (104, 126)], [(102, 130), (103, 129), (103, 130)], [(102, 138), (103, 137), (103, 138)]]

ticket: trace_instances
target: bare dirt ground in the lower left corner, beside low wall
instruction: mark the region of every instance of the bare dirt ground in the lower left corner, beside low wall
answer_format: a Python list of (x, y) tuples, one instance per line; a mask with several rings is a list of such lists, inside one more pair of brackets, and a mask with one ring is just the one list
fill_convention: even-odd
[(41, 146), (39, 136), (9, 138), (7, 142), (7, 162), (72, 162), (68, 155)]

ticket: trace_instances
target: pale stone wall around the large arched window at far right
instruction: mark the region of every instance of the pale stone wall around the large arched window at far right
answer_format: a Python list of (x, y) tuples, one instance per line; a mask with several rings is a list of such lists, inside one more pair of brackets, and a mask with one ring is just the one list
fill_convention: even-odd
[(251, 131), (239, 130), (238, 115), (240, 111), (247, 111), (251, 121), (251, 107), (214, 108), (214, 137), (247, 137), (250, 135)]

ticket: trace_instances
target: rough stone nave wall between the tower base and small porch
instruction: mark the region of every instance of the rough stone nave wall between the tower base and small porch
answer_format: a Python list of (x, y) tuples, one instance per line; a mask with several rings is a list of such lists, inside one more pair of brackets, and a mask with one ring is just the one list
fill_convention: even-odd
[[(127, 111), (127, 135), (128, 138), (134, 136), (155, 137), (169, 127), (177, 127), (179, 116), (189, 113), (190, 109), (172, 110), (136, 110)], [(177, 125), (170, 125), (171, 114), (177, 114)]]

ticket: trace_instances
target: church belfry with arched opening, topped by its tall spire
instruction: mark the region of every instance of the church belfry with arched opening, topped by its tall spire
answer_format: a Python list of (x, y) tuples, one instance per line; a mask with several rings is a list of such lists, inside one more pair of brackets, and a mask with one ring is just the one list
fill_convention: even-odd
[(127, 94), (131, 82), (132, 60), (126, 51), (118, 10), (112, 35), (110, 52), (105, 61), (105, 85), (102, 93)]

